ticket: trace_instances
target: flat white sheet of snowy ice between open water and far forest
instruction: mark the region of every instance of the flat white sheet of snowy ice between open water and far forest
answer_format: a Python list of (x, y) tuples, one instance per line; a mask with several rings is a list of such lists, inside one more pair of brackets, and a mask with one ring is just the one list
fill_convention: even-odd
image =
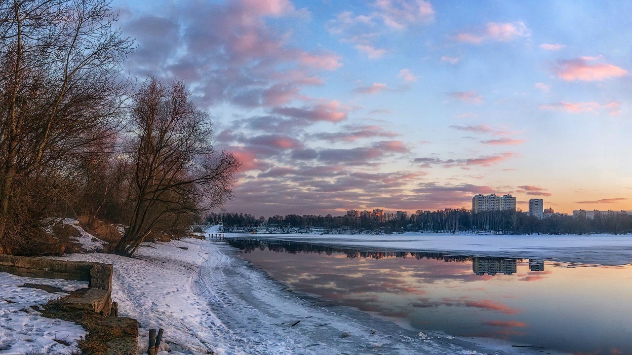
[(500, 256), (519, 259), (552, 258), (560, 262), (627, 265), (632, 263), (632, 235), (538, 236), (511, 234), (238, 234), (226, 238), (256, 238), (357, 247), (373, 250), (430, 251), (446, 255)]

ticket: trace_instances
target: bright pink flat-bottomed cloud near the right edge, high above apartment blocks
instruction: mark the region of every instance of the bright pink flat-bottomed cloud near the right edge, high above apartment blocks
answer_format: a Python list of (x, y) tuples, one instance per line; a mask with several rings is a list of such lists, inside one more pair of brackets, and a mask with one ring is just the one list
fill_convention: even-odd
[(554, 73), (566, 81), (602, 81), (628, 75), (628, 71), (603, 61), (603, 56), (558, 61)]

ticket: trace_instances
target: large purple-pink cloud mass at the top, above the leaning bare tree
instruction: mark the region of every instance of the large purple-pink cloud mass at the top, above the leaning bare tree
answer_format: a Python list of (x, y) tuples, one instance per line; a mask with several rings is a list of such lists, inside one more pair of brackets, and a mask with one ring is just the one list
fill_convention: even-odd
[(268, 21), (290, 16), (308, 13), (289, 0), (174, 2), (162, 13), (132, 17), (124, 24), (139, 45), (128, 68), (139, 76), (151, 72), (163, 80), (186, 80), (197, 104), (206, 107), (312, 100), (301, 89), (322, 85), (317, 73), (340, 68), (341, 57), (292, 45), (292, 33)]

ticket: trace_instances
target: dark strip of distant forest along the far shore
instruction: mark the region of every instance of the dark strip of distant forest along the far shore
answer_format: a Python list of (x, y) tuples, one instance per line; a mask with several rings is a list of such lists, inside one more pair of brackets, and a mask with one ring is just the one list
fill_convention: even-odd
[(597, 215), (594, 219), (553, 215), (538, 219), (523, 212), (480, 212), (466, 209), (424, 211), (401, 219), (376, 220), (332, 215), (274, 215), (255, 217), (252, 214), (212, 213), (205, 222), (222, 222), (228, 228), (255, 229), (259, 226), (278, 226), (281, 230), (324, 228), (325, 232), (394, 233), (399, 231), (423, 232), (498, 232), (502, 234), (628, 234), (632, 233), (632, 215)]

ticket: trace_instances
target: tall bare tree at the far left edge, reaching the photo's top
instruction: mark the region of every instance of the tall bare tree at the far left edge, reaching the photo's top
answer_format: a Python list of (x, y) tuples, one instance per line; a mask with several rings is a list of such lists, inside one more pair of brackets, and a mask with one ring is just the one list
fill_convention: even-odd
[(38, 241), (80, 158), (116, 132), (133, 41), (115, 21), (107, 0), (0, 1), (0, 253)]

